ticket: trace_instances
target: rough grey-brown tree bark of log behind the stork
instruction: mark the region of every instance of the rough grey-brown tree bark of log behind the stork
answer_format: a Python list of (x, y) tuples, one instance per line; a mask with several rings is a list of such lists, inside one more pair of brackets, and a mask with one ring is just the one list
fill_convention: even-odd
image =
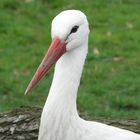
[[(0, 113), (0, 140), (37, 140), (42, 108), (21, 107), (10, 112)], [(140, 134), (140, 122), (105, 118), (88, 118), (128, 129)]]

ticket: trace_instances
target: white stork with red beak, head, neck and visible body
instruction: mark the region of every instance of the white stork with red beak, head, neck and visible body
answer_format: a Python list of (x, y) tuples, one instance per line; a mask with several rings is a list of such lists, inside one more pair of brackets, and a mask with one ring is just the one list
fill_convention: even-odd
[(38, 140), (140, 140), (140, 135), (79, 117), (77, 90), (88, 52), (89, 26), (84, 13), (66, 10), (52, 21), (52, 43), (25, 94), (55, 65), (43, 108)]

